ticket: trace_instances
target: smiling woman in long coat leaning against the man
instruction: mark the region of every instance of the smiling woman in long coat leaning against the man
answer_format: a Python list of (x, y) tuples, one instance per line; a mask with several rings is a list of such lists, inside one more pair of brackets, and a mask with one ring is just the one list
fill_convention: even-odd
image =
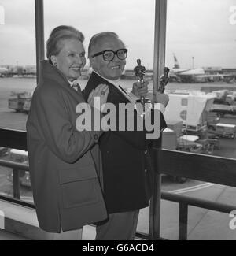
[[(46, 232), (61, 233), (59, 239), (66, 239), (67, 231), (107, 217), (98, 180), (99, 152), (94, 146), (102, 132), (76, 130), (76, 106), (85, 101), (80, 88), (76, 91), (72, 86), (86, 62), (83, 39), (75, 28), (53, 29), (46, 43), (48, 61), (42, 61), (27, 122), (39, 226)], [(99, 96), (103, 104), (108, 92), (105, 85), (92, 91), (91, 109), (93, 98)]]

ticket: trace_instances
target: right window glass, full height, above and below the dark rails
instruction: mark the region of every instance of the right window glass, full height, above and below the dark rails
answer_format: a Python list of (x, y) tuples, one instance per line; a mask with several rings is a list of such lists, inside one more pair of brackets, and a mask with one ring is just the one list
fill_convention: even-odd
[[(234, 0), (168, 0), (164, 148), (236, 158), (235, 17)], [(235, 205), (234, 187), (164, 176), (162, 190)], [(228, 214), (189, 207), (188, 239), (235, 239), (229, 222)], [(179, 205), (162, 201), (161, 236), (178, 235)]]

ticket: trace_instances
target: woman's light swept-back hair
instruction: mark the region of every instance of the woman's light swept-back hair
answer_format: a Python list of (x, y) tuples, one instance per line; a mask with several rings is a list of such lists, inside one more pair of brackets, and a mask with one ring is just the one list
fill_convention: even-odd
[(50, 63), (51, 56), (57, 56), (57, 54), (60, 53), (63, 47), (62, 41), (65, 39), (77, 39), (83, 43), (84, 35), (82, 32), (79, 32), (79, 30), (71, 26), (59, 26), (54, 28), (46, 42), (46, 58), (48, 58)]

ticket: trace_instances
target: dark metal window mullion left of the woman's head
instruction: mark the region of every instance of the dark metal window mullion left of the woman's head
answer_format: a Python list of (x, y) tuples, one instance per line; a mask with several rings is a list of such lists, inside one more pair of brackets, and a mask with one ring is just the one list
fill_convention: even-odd
[(45, 58), (43, 0), (35, 0), (35, 39), (37, 83), (39, 83), (40, 61)]

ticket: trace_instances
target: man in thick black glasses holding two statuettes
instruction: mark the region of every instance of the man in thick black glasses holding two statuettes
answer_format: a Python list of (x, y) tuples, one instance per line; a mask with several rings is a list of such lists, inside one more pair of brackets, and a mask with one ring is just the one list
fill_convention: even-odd
[[(135, 83), (128, 95), (119, 81), (126, 65), (127, 49), (118, 35), (103, 32), (94, 35), (88, 50), (93, 73), (84, 91), (87, 99), (99, 84), (109, 87), (107, 102), (119, 109), (119, 103), (129, 103), (146, 96), (147, 85)], [(158, 102), (168, 104), (168, 96), (157, 93)], [(138, 113), (135, 110), (135, 115)], [(165, 128), (160, 114), (161, 127)], [(153, 169), (149, 155), (150, 143), (146, 131), (108, 131), (100, 139), (103, 166), (103, 192), (109, 219), (97, 226), (98, 240), (131, 240), (135, 238), (139, 210), (149, 205), (153, 187)]]

